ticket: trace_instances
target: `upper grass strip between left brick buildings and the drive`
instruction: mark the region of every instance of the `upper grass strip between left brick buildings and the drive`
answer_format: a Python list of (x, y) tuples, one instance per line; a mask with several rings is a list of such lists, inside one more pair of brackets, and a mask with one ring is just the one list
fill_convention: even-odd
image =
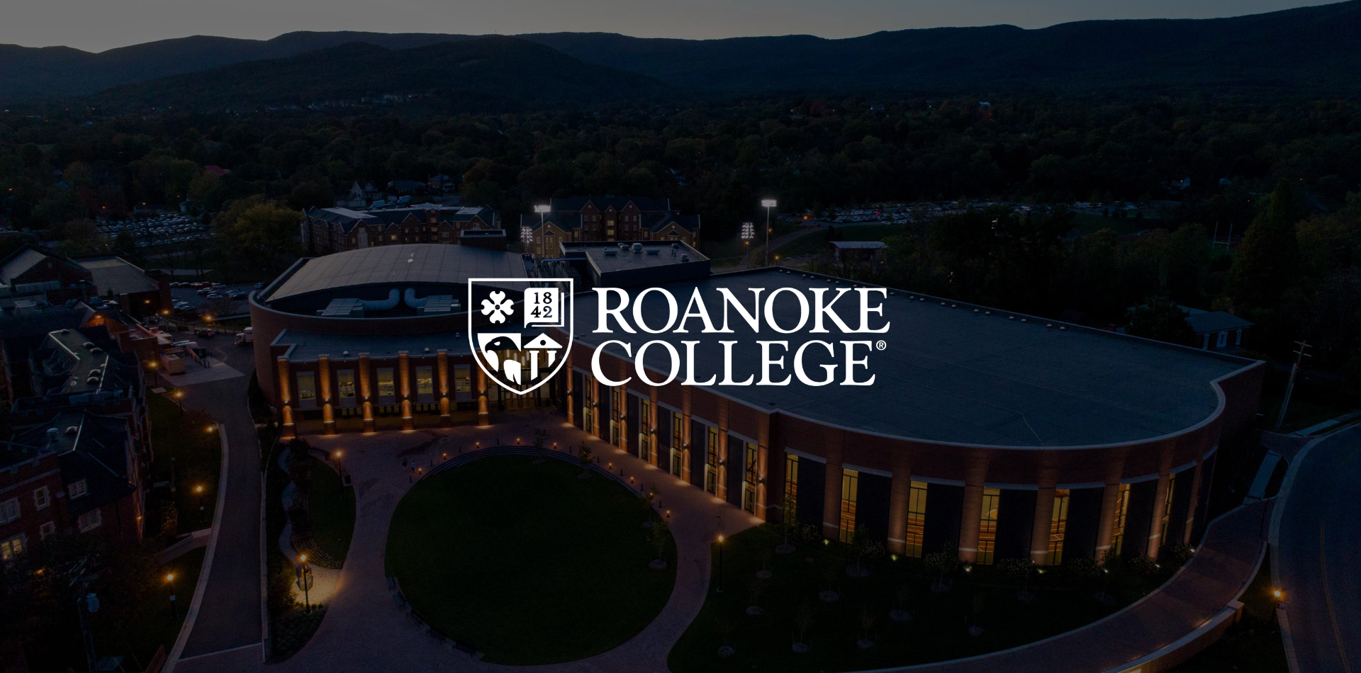
[[(218, 472), (222, 466), (222, 443), (216, 432), (210, 432), (212, 417), (193, 411), (180, 411), (174, 392), (147, 394), (151, 416), (152, 483), (169, 481), (174, 472), (174, 504), (178, 511), (178, 532), (188, 533), (212, 525), (212, 511), (218, 504)], [(186, 393), (192, 394), (192, 393)], [(201, 495), (196, 491), (203, 487)], [(169, 498), (169, 489), (157, 489)], [(165, 503), (166, 500), (161, 500)], [(199, 511), (199, 504), (203, 511)], [(161, 519), (152, 519), (148, 533), (163, 532)]]

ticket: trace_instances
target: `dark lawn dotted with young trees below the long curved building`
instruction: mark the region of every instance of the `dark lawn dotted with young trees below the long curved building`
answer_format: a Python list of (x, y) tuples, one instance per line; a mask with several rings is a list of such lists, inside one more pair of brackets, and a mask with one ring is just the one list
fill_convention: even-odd
[[(891, 668), (955, 659), (1015, 647), (1071, 631), (1111, 615), (1138, 600), (1170, 575), (1160, 578), (1120, 576), (1112, 572), (1108, 591), (1116, 605), (1096, 600), (1100, 581), (1067, 576), (1060, 570), (1032, 575), (1030, 602), (1018, 600), (1021, 583), (998, 575), (991, 566), (974, 566), (972, 572), (955, 571), (947, 593), (932, 593), (938, 574), (917, 559), (867, 563), (870, 576), (847, 575), (845, 545), (800, 544), (792, 555), (774, 555), (781, 542), (778, 529), (762, 525), (732, 536), (724, 548), (724, 593), (710, 589), (704, 609), (671, 650), (668, 665), (675, 673), (723, 672), (822, 672)], [(1166, 566), (1166, 564), (1165, 564)], [(765, 609), (749, 616), (757, 571), (770, 570), (755, 598)], [(965, 582), (965, 578), (969, 582)], [(819, 600), (821, 590), (838, 591), (836, 602)], [(912, 620), (893, 621), (891, 609), (912, 613)], [(798, 613), (811, 612), (804, 643), (811, 650), (792, 651)], [(983, 628), (970, 635), (969, 627)], [(857, 640), (868, 638), (874, 647), (862, 650)], [(736, 653), (719, 657), (720, 646)]]

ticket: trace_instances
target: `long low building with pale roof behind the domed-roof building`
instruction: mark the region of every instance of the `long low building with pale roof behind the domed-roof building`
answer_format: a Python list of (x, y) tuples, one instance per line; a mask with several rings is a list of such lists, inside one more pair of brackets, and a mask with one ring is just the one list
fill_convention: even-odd
[[(305, 215), (302, 247), (313, 254), (406, 243), (457, 245), (463, 242), (464, 232), (501, 228), (497, 212), (482, 207), (419, 204), (370, 211), (312, 208)], [(504, 241), (504, 234), (501, 239)]]

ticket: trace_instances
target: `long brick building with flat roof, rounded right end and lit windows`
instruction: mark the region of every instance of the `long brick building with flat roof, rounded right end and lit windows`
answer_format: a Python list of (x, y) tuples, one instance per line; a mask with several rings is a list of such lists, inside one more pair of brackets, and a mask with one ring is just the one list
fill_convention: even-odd
[[(698, 288), (721, 320), (727, 287), (855, 287), (791, 269), (715, 275), (659, 287), (679, 300)], [(638, 296), (644, 287), (629, 290)], [(776, 305), (776, 321), (798, 322), (798, 305)], [(653, 328), (666, 324), (657, 292), (644, 305)], [(851, 299), (855, 299), (851, 295)], [(833, 305), (857, 325), (856, 305)], [(576, 343), (559, 374), (563, 411), (578, 428), (627, 450), (675, 479), (761, 519), (793, 515), (832, 540), (856, 530), (894, 553), (957, 549), (968, 563), (1029, 557), (1059, 564), (1109, 549), (1157, 556), (1199, 538), (1222, 442), (1256, 412), (1263, 363), (1043, 318), (890, 291), (883, 334), (755, 334), (732, 318), (734, 379), (759, 377), (758, 339), (883, 340), (860, 349), (871, 386), (649, 386), (618, 345), (602, 352), (610, 387), (591, 374), (591, 353), (608, 339), (633, 343), (701, 339), (695, 377), (721, 375), (717, 337), (690, 333), (595, 334), (595, 294), (576, 298)], [(633, 315), (632, 302), (626, 315)], [(811, 324), (811, 320), (810, 320)], [(876, 321), (876, 325), (882, 322)], [(762, 329), (769, 326), (762, 321)], [(842, 364), (810, 349), (806, 371)], [(683, 358), (683, 355), (682, 355)], [(671, 368), (648, 351), (653, 381)], [(776, 370), (772, 378), (792, 374)], [(838, 371), (838, 381), (844, 370)], [(784, 510), (788, 500), (793, 513)]]

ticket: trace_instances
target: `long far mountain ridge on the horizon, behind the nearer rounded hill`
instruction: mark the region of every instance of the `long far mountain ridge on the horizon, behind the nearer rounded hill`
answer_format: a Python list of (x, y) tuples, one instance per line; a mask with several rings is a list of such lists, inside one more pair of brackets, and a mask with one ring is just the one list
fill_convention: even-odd
[[(1361, 0), (1228, 19), (1075, 22), (1038, 30), (900, 30), (845, 39), (661, 39), (611, 33), (520, 37), (588, 64), (720, 95), (1132, 88), (1351, 97), (1361, 82)], [(0, 102), (84, 95), (355, 42), (401, 52), (472, 39), (444, 34), (289, 33), (268, 41), (189, 37), (101, 53), (0, 45)], [(317, 86), (325, 88), (327, 83)]]

